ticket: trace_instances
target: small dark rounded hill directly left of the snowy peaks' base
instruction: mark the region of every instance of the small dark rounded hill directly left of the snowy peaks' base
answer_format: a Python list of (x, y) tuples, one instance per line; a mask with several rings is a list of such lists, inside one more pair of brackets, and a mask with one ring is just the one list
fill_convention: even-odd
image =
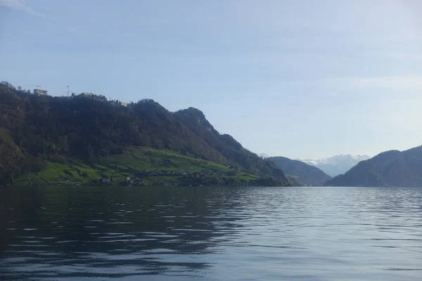
[(323, 185), (331, 180), (331, 176), (325, 174), (324, 171), (304, 162), (286, 157), (269, 157), (268, 159), (274, 161), (287, 176), (293, 176), (295, 181), (302, 185)]

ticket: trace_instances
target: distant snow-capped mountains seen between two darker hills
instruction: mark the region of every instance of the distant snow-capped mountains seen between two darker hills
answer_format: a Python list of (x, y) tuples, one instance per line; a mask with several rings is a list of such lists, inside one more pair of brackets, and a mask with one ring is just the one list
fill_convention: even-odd
[(352, 166), (357, 163), (371, 158), (368, 155), (335, 155), (333, 157), (323, 158), (323, 159), (298, 159), (299, 161), (305, 162), (306, 164), (316, 166), (316, 168), (321, 169), (324, 173), (330, 176), (338, 176), (344, 174), (346, 171), (349, 171)]

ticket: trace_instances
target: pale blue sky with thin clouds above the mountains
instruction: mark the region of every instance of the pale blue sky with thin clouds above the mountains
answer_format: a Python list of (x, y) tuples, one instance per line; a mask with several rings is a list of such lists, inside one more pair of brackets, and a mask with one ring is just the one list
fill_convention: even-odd
[(202, 110), (257, 153), (422, 145), (422, 2), (0, 0), (0, 80)]

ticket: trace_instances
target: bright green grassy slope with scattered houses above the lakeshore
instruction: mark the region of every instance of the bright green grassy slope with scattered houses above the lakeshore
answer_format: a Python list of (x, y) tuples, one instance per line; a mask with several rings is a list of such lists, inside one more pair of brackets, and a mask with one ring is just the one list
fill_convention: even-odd
[[(161, 171), (151, 172), (158, 169)], [(47, 162), (44, 171), (20, 176), (14, 184), (92, 185), (97, 181), (102, 183), (102, 178), (110, 179), (107, 184), (111, 185), (131, 184), (127, 177), (138, 178), (144, 185), (224, 185), (258, 178), (168, 150), (133, 147), (122, 155), (110, 155), (101, 164), (88, 165), (75, 159), (67, 159), (65, 163)]]

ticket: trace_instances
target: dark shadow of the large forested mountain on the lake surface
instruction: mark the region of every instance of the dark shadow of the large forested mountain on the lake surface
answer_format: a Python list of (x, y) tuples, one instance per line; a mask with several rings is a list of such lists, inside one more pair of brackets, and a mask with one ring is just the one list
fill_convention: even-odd
[[(212, 263), (241, 208), (218, 188), (2, 188), (0, 271), (5, 280), (194, 276)], [(227, 197), (228, 196), (228, 197)]]

